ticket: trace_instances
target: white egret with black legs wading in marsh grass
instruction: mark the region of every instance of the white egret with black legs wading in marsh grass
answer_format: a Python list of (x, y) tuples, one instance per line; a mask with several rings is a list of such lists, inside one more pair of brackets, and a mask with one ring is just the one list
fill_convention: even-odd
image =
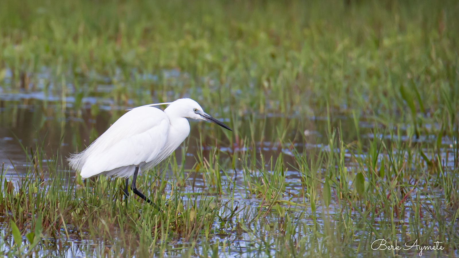
[[(152, 107), (169, 105), (164, 111)], [(151, 202), (137, 190), (139, 171), (153, 168), (177, 149), (190, 134), (186, 118), (207, 120), (231, 129), (209, 116), (194, 100), (184, 98), (174, 102), (135, 107), (125, 113), (84, 151), (72, 154), (70, 167), (82, 178), (104, 174), (124, 177), (124, 194), (128, 196), (129, 177), (134, 175), (131, 189), (146, 202)]]

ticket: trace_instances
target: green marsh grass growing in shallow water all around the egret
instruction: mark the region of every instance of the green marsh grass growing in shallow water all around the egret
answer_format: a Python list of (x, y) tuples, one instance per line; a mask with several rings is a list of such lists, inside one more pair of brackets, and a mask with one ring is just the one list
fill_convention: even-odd
[[(458, 15), (457, 1), (3, 1), (0, 127), (39, 140), (18, 181), (1, 170), (0, 252), (393, 255), (371, 250), (384, 238), (457, 255)], [(66, 170), (127, 107), (179, 97), (234, 131), (192, 123), (188, 150), (141, 176), (160, 211)]]

